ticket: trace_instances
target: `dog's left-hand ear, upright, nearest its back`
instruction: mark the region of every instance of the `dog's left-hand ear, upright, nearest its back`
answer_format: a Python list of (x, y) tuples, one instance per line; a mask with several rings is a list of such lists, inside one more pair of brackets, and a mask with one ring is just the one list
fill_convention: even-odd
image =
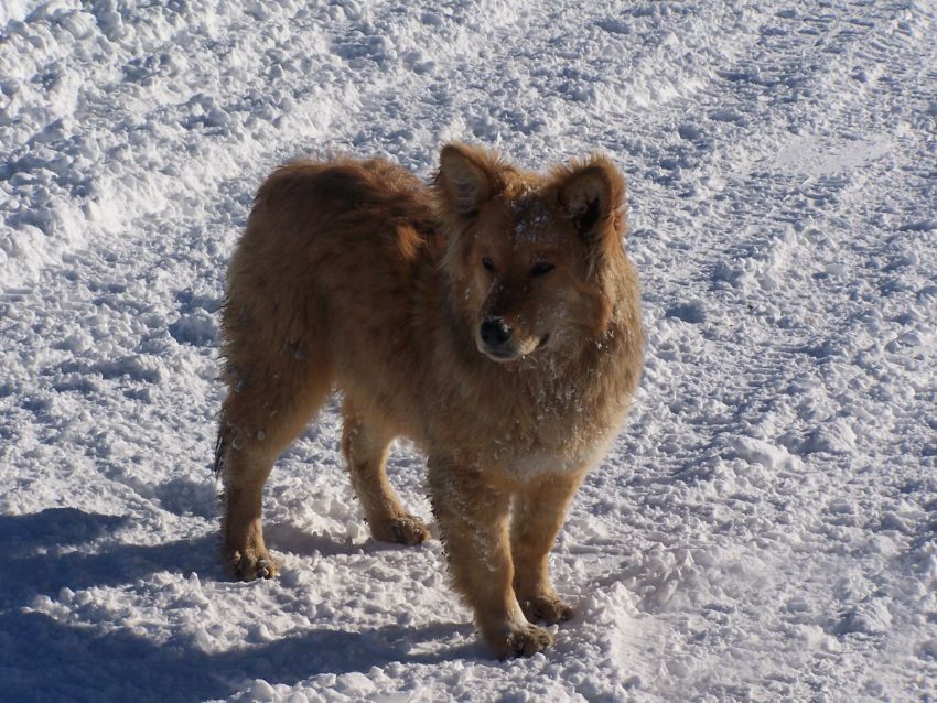
[(445, 205), (471, 218), (481, 206), (504, 190), (504, 165), (491, 152), (450, 143), (439, 154), (437, 187)]

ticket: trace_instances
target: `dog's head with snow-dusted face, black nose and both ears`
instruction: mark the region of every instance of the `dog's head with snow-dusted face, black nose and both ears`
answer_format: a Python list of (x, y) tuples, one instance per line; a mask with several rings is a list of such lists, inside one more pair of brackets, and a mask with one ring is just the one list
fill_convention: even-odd
[(435, 192), (444, 266), (480, 352), (513, 361), (601, 339), (627, 262), (625, 184), (608, 159), (541, 175), (449, 144)]

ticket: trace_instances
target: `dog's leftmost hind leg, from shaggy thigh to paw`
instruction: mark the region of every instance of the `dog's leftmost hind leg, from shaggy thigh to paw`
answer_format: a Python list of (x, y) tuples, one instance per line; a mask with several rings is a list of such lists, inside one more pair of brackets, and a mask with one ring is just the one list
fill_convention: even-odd
[(279, 572), (263, 543), (263, 484), (280, 453), (319, 410), (331, 389), (324, 364), (257, 363), (235, 381), (222, 409), (218, 464), (225, 484), (223, 556), (245, 581)]

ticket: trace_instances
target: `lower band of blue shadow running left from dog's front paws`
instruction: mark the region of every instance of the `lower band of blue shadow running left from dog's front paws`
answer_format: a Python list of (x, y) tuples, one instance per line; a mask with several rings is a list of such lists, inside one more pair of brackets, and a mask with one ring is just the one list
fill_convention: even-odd
[[(467, 629), (471, 629), (468, 627)], [(313, 629), (297, 637), (207, 653), (191, 641), (159, 645), (129, 628), (100, 634), (39, 613), (0, 612), (0, 656), (9, 674), (4, 700), (205, 701), (249, 690), (262, 679), (292, 685), (316, 674), (367, 672), (394, 662), (437, 664), (483, 656), (477, 645), (410, 653), (466, 626), (387, 626), (365, 632)]]

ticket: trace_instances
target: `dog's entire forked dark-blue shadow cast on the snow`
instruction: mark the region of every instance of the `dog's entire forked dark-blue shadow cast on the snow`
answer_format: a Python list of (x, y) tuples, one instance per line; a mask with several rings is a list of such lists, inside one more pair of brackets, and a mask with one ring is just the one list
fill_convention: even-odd
[[(467, 623), (389, 625), (357, 632), (308, 629), (211, 652), (190, 637), (158, 643), (136, 635), (130, 623), (94, 614), (95, 627), (88, 627), (32, 609), (37, 596), (56, 599), (66, 587), (132, 587), (162, 571), (220, 575), (214, 537), (153, 545), (105, 543), (98, 553), (80, 551), (82, 544), (119, 530), (126, 521), (73, 508), (0, 516), (0, 661), (10, 674), (4, 677), (6, 700), (202, 701), (228, 697), (256, 679), (294, 684), (321, 673), (367, 672), (392, 662), (434, 664), (485, 657)], [(322, 544), (316, 542), (316, 548)], [(338, 553), (342, 547), (333, 550)], [(453, 639), (471, 643), (439, 647)], [(420, 652), (430, 643), (432, 651)]]

